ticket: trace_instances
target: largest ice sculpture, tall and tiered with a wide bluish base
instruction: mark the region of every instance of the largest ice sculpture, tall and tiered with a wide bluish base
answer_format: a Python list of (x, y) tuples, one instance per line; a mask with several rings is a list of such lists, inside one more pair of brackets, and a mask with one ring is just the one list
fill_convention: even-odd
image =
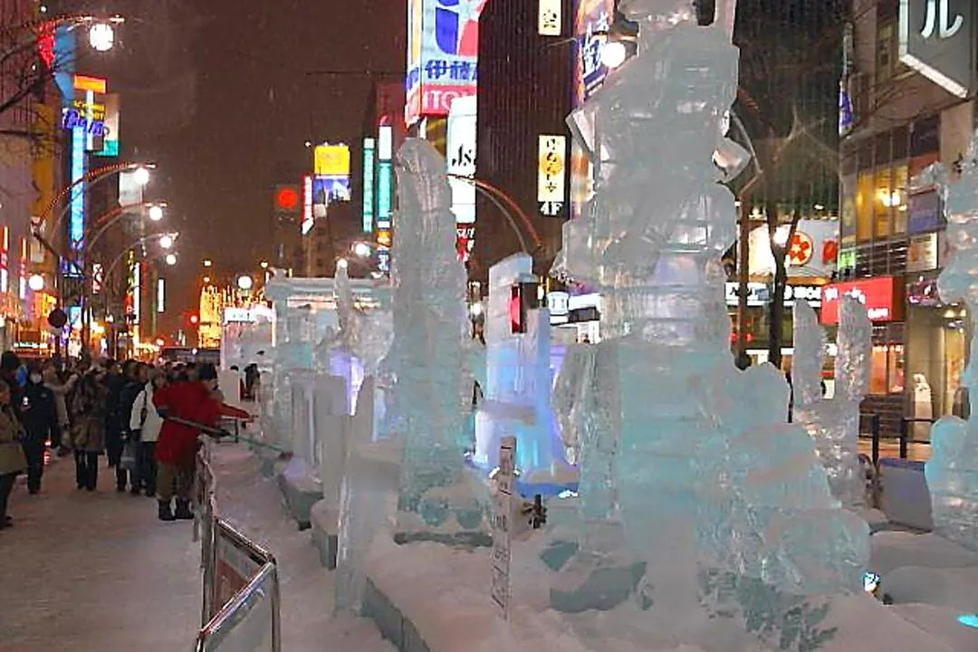
[(698, 26), (691, 0), (623, 2), (641, 54), (569, 120), (597, 182), (564, 260), (598, 286), (607, 339), (586, 397), (585, 532), (552, 604), (607, 609), (632, 595), (642, 622), (679, 639), (711, 615), (755, 623), (772, 604), (782, 632), (782, 596), (861, 590), (868, 560), (866, 523), (784, 422), (783, 376), (733, 367), (719, 258), (735, 210), (716, 152), (730, 150), (734, 7), (718, 0), (716, 21)]

